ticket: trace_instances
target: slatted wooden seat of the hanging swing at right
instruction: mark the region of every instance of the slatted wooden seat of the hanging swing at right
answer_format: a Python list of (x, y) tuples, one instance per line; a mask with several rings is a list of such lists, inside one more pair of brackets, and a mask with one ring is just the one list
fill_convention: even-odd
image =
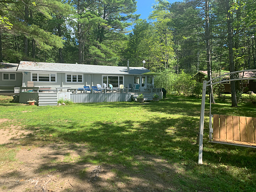
[(213, 115), (211, 142), (256, 148), (256, 117)]

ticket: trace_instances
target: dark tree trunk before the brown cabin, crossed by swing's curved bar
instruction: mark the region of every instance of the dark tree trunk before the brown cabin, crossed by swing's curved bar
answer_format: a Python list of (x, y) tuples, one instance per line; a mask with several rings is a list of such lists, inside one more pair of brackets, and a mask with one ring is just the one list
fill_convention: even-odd
[[(227, 12), (227, 40), (228, 40), (228, 53), (229, 53), (229, 67), (230, 72), (235, 71), (234, 58), (233, 58), (233, 30), (232, 30), (232, 17), (230, 10), (229, 0), (226, 0), (226, 12)], [(230, 79), (234, 79), (234, 76), (231, 75)], [(235, 81), (230, 81), (231, 84), (231, 107), (237, 107), (236, 101), (236, 84)]]

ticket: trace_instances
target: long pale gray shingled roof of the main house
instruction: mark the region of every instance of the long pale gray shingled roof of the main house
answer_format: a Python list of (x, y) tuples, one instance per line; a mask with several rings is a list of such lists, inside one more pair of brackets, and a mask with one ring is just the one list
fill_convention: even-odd
[(144, 67), (129, 67), (129, 71), (127, 71), (127, 67), (85, 64), (41, 63), (31, 61), (20, 61), (17, 70), (113, 75), (140, 75), (142, 73), (150, 71)]

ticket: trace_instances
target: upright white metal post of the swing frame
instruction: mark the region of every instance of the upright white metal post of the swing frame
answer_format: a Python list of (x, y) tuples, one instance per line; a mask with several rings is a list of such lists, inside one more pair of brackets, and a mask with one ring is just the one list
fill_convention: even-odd
[(206, 85), (207, 85), (207, 81), (204, 81), (203, 91), (202, 91), (202, 101), (201, 101), (200, 122), (199, 122), (200, 134), (199, 134), (198, 164), (203, 164), (204, 107), (205, 107)]

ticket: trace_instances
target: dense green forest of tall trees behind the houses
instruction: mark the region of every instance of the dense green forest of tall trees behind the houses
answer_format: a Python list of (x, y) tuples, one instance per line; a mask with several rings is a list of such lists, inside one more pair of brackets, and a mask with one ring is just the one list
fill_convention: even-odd
[[(149, 70), (177, 76), (207, 70), (208, 79), (212, 71), (256, 69), (255, 0), (156, 0), (148, 20), (134, 14), (136, 4), (0, 0), (0, 62), (125, 66), (129, 60), (140, 67), (145, 60)], [(233, 106), (238, 88), (232, 81)]]

